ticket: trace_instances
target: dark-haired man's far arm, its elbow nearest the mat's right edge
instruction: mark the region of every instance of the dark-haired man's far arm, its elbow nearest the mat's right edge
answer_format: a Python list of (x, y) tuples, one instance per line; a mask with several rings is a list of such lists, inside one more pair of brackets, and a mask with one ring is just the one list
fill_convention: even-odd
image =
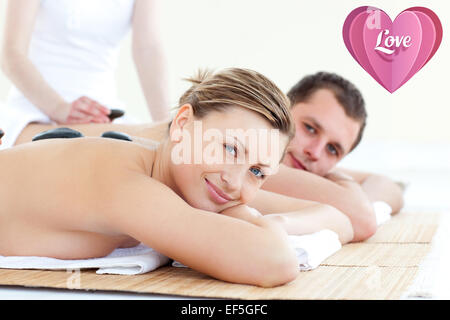
[(343, 168), (338, 168), (335, 171), (351, 176), (361, 185), (371, 202), (386, 202), (392, 208), (393, 214), (398, 213), (403, 208), (403, 187), (389, 177)]

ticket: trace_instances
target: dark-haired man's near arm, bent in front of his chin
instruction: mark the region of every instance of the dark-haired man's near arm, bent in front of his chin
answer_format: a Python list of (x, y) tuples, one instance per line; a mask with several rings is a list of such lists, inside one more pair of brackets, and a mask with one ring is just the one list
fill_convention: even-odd
[(264, 190), (289, 197), (316, 201), (331, 205), (350, 218), (353, 241), (371, 237), (377, 228), (372, 203), (355, 181), (334, 181), (313, 173), (280, 165), (277, 174), (264, 183)]

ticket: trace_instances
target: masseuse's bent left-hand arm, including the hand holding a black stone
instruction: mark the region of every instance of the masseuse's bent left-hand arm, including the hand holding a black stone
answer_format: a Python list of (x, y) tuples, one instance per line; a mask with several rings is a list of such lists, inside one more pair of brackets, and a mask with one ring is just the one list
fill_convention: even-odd
[(69, 123), (80, 123), (80, 118), (89, 116), (88, 120), (104, 119), (102, 116), (109, 111), (101, 106), (83, 103), (81, 99), (76, 100), (76, 105), (65, 101), (28, 58), (40, 3), (39, 0), (8, 1), (1, 61), (3, 72), (31, 103), (58, 123), (66, 123), (70, 116), (73, 121)]

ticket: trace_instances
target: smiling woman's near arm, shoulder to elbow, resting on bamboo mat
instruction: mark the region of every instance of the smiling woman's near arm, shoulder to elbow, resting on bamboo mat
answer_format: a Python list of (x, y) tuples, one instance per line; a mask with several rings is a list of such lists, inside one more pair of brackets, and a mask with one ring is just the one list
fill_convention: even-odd
[(99, 190), (109, 229), (212, 277), (271, 287), (298, 273), (287, 235), (270, 221), (257, 224), (190, 207), (170, 188), (136, 172), (110, 177)]

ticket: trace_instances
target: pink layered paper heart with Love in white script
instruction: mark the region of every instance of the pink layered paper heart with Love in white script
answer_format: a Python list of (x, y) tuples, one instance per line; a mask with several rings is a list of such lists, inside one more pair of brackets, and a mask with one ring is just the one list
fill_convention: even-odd
[(342, 34), (353, 58), (393, 93), (436, 53), (442, 25), (424, 7), (406, 9), (392, 22), (384, 11), (364, 6), (350, 12)]

